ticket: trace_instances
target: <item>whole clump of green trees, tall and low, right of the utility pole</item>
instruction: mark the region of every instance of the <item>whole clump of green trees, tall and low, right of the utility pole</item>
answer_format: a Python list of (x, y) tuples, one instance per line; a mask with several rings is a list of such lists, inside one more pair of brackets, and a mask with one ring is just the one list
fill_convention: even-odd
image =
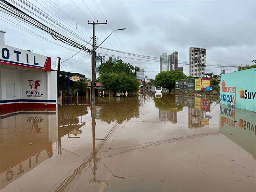
[(135, 72), (140, 68), (130, 65), (128, 62), (123, 63), (117, 60), (116, 63), (107, 61), (99, 67), (100, 83), (106, 89), (112, 89), (114, 93), (119, 92), (137, 92), (140, 81), (136, 78)]

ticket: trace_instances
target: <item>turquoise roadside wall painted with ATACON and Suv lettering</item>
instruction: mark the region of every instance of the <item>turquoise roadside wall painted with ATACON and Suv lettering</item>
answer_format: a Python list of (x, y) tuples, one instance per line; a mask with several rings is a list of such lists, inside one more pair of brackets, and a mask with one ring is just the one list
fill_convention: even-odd
[(220, 103), (256, 112), (255, 68), (221, 75)]

